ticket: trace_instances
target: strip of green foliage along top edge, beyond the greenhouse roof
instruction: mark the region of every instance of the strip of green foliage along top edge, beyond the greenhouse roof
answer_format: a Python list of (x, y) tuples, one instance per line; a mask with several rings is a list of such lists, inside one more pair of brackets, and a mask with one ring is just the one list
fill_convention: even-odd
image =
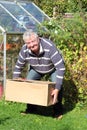
[(32, 0), (39, 6), (48, 16), (53, 16), (53, 8), (57, 7), (57, 12), (64, 14), (87, 11), (86, 0)]

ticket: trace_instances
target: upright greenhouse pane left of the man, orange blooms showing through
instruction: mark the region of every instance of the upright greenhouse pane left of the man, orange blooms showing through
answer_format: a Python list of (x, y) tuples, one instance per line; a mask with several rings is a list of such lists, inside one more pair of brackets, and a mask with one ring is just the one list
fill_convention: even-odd
[[(18, 58), (19, 51), (24, 44), (23, 35), (22, 34), (8, 34), (7, 35), (7, 43), (6, 43), (6, 77), (7, 79), (12, 79), (13, 70), (15, 63)], [(22, 75), (26, 75), (25, 73), (27, 66), (23, 69)], [(22, 76), (23, 77), (23, 76)]]

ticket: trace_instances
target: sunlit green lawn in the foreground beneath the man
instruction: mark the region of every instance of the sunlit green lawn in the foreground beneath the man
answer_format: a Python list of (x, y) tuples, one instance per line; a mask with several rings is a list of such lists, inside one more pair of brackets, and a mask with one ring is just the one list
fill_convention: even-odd
[(21, 115), (26, 104), (0, 100), (0, 130), (86, 130), (87, 106), (67, 111), (61, 120), (43, 114)]

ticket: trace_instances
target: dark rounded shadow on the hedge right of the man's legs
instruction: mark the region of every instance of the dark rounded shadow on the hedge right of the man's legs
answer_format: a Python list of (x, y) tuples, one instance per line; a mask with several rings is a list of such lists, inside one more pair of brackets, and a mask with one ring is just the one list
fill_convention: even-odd
[(63, 107), (64, 113), (73, 110), (78, 101), (78, 89), (72, 80), (64, 80)]

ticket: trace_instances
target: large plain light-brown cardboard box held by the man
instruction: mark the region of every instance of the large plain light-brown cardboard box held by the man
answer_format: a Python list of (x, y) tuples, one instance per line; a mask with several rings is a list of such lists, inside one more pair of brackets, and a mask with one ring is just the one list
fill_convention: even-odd
[(51, 92), (55, 83), (35, 80), (11, 80), (6, 81), (5, 100), (30, 103), (41, 106), (52, 105)]

